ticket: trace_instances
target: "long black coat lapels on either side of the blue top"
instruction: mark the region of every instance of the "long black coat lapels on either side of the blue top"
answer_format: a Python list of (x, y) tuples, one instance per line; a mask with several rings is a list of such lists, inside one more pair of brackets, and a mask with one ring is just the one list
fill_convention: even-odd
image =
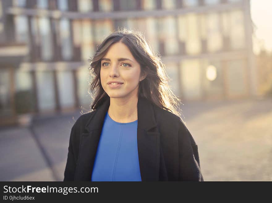
[[(104, 118), (110, 101), (106, 100), (91, 114), (82, 134), (75, 180), (91, 180), (91, 173), (96, 157), (96, 150), (102, 132)], [(159, 129), (155, 120), (154, 107), (143, 97), (138, 97), (137, 104), (138, 157), (142, 181), (159, 180), (160, 142)]]

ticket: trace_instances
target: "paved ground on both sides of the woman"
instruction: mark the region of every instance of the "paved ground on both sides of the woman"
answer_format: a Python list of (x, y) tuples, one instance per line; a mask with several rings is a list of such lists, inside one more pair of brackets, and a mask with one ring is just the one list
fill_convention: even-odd
[[(184, 102), (206, 181), (272, 180), (272, 98)], [(62, 181), (70, 130), (80, 112), (0, 129), (0, 181)]]

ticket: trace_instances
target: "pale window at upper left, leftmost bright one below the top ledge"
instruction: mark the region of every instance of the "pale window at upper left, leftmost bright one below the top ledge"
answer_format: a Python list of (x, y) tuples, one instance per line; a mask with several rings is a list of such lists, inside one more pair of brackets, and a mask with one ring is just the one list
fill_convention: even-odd
[(15, 38), (17, 42), (28, 43), (28, 19), (27, 16), (18, 15), (14, 17)]

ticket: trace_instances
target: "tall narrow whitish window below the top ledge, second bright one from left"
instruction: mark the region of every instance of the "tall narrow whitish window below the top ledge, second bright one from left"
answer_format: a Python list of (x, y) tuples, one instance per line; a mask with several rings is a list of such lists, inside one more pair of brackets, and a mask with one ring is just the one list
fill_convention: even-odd
[(39, 19), (39, 30), (41, 38), (41, 57), (48, 61), (52, 59), (52, 36), (50, 32), (50, 22), (48, 18)]

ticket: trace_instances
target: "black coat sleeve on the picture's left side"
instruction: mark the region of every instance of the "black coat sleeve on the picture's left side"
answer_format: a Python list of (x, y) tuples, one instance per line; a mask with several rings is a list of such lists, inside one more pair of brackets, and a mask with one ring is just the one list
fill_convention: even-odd
[(73, 150), (73, 138), (75, 136), (75, 124), (73, 125), (70, 133), (69, 147), (68, 147), (68, 157), (66, 162), (66, 167), (64, 171), (63, 181), (74, 181), (74, 174), (76, 169), (76, 161)]

